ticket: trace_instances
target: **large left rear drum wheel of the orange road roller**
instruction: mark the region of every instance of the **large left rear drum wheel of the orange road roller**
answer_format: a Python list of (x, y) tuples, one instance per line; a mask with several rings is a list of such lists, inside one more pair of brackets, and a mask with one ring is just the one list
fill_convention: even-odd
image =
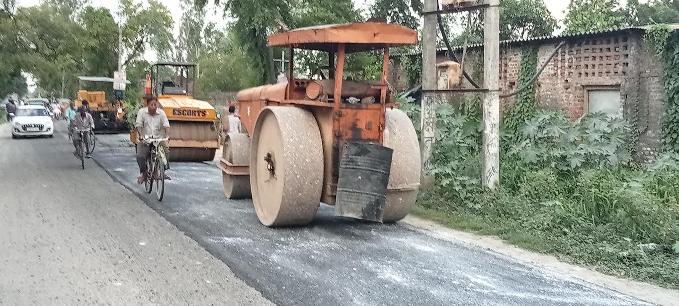
[(266, 107), (251, 147), (250, 186), (259, 222), (309, 224), (323, 189), (323, 147), (314, 115), (297, 107)]

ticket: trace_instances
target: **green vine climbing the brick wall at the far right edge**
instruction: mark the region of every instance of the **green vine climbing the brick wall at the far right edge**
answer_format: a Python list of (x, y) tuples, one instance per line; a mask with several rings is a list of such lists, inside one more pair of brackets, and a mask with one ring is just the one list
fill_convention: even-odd
[(679, 151), (679, 33), (665, 24), (653, 26), (644, 41), (663, 61), (665, 114), (661, 122), (665, 150)]

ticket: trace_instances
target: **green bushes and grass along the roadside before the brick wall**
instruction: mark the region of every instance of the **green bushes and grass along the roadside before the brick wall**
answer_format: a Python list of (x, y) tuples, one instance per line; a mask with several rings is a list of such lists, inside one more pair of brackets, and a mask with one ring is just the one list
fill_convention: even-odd
[[(435, 184), (420, 195), (417, 215), (679, 288), (678, 155), (638, 165), (625, 148), (624, 120), (592, 114), (570, 122), (538, 110), (502, 135), (500, 186), (483, 190), (480, 116), (465, 105), (438, 106)], [(419, 107), (403, 108), (418, 126)]]

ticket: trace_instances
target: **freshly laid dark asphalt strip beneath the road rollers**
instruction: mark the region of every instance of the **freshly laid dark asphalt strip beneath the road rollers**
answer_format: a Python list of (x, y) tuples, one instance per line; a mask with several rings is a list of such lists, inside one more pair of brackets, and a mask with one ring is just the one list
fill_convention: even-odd
[(124, 135), (100, 136), (94, 157), (113, 180), (225, 262), (277, 305), (648, 305), (511, 258), (404, 224), (332, 216), (266, 228), (251, 201), (230, 201), (221, 172), (175, 163), (165, 199), (135, 184)]

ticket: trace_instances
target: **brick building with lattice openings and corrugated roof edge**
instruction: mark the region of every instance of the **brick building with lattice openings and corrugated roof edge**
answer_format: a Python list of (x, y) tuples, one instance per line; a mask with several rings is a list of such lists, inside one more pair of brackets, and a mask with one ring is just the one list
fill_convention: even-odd
[[(679, 24), (669, 25), (679, 29)], [(649, 160), (661, 150), (661, 116), (665, 108), (663, 65), (644, 43), (644, 34), (650, 27), (630, 27), (536, 37), (500, 42), (500, 88), (502, 93), (517, 90), (520, 86), (519, 67), (527, 48), (536, 48), (538, 69), (562, 41), (566, 44), (551, 59), (536, 81), (538, 107), (562, 109), (572, 120), (588, 112), (602, 111), (612, 116), (623, 116), (641, 135), (634, 157)], [(462, 47), (454, 47), (460, 56)], [(421, 54), (409, 54), (421, 56)], [(437, 62), (448, 61), (447, 49), (437, 51)], [(481, 64), (479, 64), (481, 63)], [(464, 70), (475, 75), (482, 84), (483, 45), (468, 46)], [(390, 80), (399, 92), (418, 84), (407, 84), (407, 75), (401, 68), (399, 57), (394, 56)], [(462, 88), (473, 88), (463, 80)], [(418, 95), (418, 92), (415, 92)], [(455, 93), (441, 96), (449, 103), (460, 103), (473, 94)], [(500, 99), (502, 109), (507, 109), (515, 97)]]

